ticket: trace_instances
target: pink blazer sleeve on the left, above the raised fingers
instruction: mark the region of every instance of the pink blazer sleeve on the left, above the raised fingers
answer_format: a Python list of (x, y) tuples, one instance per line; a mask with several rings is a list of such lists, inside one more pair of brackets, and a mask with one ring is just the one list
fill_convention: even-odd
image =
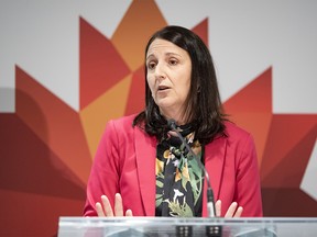
[(100, 139), (87, 182), (84, 216), (97, 216), (95, 205), (102, 194), (113, 206), (114, 194), (119, 192), (119, 173), (118, 136), (113, 121), (110, 121)]

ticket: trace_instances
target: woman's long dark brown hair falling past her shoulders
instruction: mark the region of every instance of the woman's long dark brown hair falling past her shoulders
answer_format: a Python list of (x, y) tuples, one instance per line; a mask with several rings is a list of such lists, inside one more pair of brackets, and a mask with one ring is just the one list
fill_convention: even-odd
[[(193, 124), (195, 138), (201, 144), (207, 144), (217, 135), (226, 135), (223, 122), (227, 119), (222, 113), (212, 58), (205, 43), (194, 32), (182, 26), (170, 25), (154, 33), (149, 40), (145, 58), (150, 45), (156, 38), (172, 42), (186, 50), (192, 59), (190, 89), (185, 101), (184, 114), (188, 114), (187, 123)], [(133, 126), (139, 126), (160, 139), (170, 128), (152, 98), (146, 75), (145, 65), (145, 110), (135, 116)]]

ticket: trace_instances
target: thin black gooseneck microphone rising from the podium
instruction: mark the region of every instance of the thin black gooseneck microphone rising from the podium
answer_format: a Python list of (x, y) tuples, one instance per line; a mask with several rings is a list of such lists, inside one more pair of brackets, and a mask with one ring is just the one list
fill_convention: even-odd
[(204, 172), (204, 174), (206, 177), (206, 181), (207, 181), (207, 212), (208, 212), (208, 217), (216, 217), (214, 191), (212, 191), (211, 185), (210, 185), (209, 174), (208, 174), (204, 163), (201, 162), (200, 159), (197, 158), (196, 154), (193, 151), (193, 149), (186, 143), (186, 140), (184, 139), (182, 134), (177, 131), (176, 121), (173, 120), (173, 119), (168, 120), (167, 121), (167, 126), (168, 126), (168, 128), (171, 128), (173, 132), (175, 132), (177, 134), (177, 137), (185, 145), (185, 147), (187, 148), (188, 153), (190, 153), (190, 155), (195, 157), (195, 159), (197, 160), (199, 167), (201, 168), (201, 170), (203, 170), (203, 172)]

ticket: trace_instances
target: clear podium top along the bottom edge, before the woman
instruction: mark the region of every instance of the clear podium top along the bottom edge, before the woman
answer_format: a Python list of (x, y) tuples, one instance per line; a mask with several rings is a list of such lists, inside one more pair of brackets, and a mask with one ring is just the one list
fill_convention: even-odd
[(317, 218), (59, 217), (58, 237), (310, 237)]

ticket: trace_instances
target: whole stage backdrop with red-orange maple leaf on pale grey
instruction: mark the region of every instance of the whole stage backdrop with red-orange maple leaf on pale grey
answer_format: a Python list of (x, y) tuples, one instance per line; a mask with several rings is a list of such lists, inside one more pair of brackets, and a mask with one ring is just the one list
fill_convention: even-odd
[[(317, 214), (316, 1), (0, 2), (0, 236), (80, 216), (107, 121), (144, 108), (144, 46), (171, 24), (209, 46), (253, 134), (265, 216)], [(212, 176), (212, 174), (211, 174)]]

